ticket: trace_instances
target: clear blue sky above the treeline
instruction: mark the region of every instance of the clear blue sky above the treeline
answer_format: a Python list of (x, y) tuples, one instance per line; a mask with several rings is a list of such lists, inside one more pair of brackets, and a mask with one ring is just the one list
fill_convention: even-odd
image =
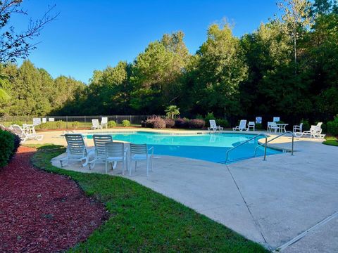
[[(36, 39), (41, 43), (29, 59), (53, 77), (65, 74), (86, 83), (94, 70), (131, 62), (164, 33), (182, 30), (195, 53), (214, 22), (227, 18), (240, 37), (278, 11), (275, 0), (24, 0), (22, 6), (35, 19), (53, 4), (60, 15)], [(19, 29), (27, 23), (27, 18), (12, 20)]]

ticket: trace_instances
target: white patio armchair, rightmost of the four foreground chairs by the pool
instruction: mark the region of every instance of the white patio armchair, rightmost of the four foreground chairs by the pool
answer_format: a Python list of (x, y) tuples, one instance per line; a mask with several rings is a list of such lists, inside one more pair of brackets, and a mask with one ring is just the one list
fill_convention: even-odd
[(151, 171), (153, 171), (153, 155), (154, 147), (148, 149), (146, 144), (130, 143), (130, 169), (129, 176), (132, 176), (132, 161), (135, 162), (135, 171), (137, 168), (137, 161), (146, 160), (146, 176), (149, 176), (149, 162), (151, 163)]

